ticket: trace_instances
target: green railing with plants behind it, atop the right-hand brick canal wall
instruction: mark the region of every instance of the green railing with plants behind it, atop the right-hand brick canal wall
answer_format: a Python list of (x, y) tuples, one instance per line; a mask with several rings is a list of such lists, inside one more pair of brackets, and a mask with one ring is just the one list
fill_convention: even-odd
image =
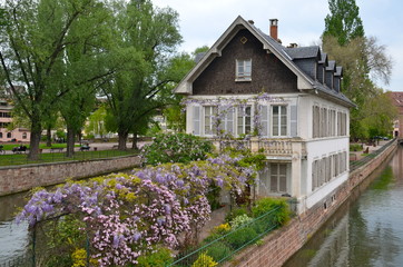
[(185, 266), (213, 266), (208, 265), (214, 260), (222, 264), (229, 260), (234, 254), (248, 245), (255, 244), (267, 233), (279, 225), (276, 221), (276, 211), (279, 207), (272, 209), (254, 220), (239, 226), (238, 228), (223, 235), (212, 235), (199, 248), (179, 254), (169, 267)]

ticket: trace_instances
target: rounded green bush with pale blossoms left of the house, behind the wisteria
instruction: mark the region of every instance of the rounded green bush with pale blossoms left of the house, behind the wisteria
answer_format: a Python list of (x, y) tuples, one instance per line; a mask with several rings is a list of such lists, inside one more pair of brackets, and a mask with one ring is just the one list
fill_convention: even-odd
[(151, 145), (144, 147), (146, 164), (158, 165), (166, 162), (188, 164), (206, 159), (213, 151), (210, 141), (187, 134), (157, 135)]

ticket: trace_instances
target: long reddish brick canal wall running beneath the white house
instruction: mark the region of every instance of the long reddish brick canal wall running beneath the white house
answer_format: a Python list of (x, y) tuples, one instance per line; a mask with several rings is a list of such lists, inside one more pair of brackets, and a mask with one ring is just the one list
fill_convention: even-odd
[(235, 257), (226, 266), (271, 266), (279, 267), (291, 258), (348, 199), (354, 188), (384, 162), (397, 148), (397, 141), (391, 141), (380, 149), (372, 160), (351, 172), (348, 180), (331, 192), (327, 198), (306, 212), (293, 218), (289, 224), (272, 233), (259, 246), (252, 246)]

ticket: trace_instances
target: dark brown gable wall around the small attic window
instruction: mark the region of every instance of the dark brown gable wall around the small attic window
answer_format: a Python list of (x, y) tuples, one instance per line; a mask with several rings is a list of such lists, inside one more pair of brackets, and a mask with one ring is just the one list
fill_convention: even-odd
[[(242, 43), (240, 39), (247, 38)], [(252, 59), (252, 81), (235, 81), (236, 59)], [(248, 30), (243, 29), (193, 83), (193, 95), (296, 92), (297, 77)]]

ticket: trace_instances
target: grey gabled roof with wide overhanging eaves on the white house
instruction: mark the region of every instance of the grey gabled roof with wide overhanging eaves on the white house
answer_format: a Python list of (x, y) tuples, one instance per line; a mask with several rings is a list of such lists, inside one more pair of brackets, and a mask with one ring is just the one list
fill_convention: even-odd
[[(318, 47), (307, 48), (285, 48), (278, 41), (271, 36), (264, 33), (261, 29), (256, 28), (254, 23), (250, 23), (238, 16), (235, 21), (228, 27), (228, 29), (218, 38), (213, 47), (206, 52), (206, 55), (196, 63), (196, 66), (185, 76), (185, 78), (175, 88), (176, 93), (193, 93), (193, 82), (197, 77), (208, 67), (208, 65), (216, 58), (222, 56), (222, 50), (234, 38), (234, 36), (240, 30), (247, 29), (253, 33), (262, 43), (263, 49), (272, 52), (276, 56), (294, 75), (297, 77), (297, 89), (301, 91), (312, 92), (317, 90), (323, 91), (324, 95), (330, 93), (325, 86), (313, 80), (307, 73), (297, 67), (293, 59), (323, 57), (325, 53), (321, 52)], [(295, 49), (295, 50), (294, 50)], [(325, 56), (326, 60), (326, 56)], [(333, 65), (334, 68), (335, 65)], [(327, 68), (326, 68), (327, 70)], [(335, 101), (341, 102), (347, 107), (354, 107), (355, 105), (350, 101), (342, 93), (332, 92), (330, 96)]]

